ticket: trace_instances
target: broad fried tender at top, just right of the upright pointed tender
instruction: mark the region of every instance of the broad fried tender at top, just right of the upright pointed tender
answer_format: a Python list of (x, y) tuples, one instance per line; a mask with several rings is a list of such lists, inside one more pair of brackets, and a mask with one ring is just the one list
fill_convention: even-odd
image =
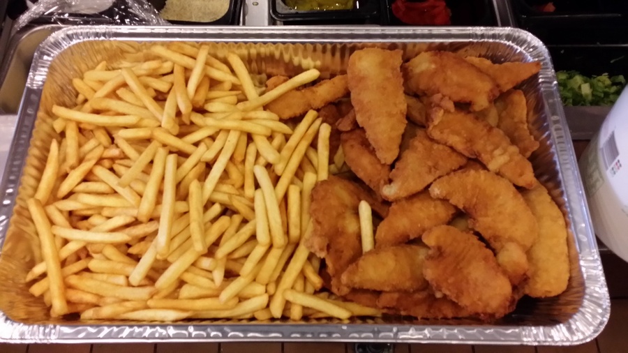
[(442, 93), (454, 102), (471, 103), (476, 112), (500, 93), (493, 78), (451, 52), (423, 52), (403, 65), (403, 74), (412, 93)]

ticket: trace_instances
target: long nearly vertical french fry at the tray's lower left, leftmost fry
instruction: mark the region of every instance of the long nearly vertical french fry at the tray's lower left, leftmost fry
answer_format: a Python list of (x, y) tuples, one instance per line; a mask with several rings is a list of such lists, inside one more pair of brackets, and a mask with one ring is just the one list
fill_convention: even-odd
[(54, 233), (50, 221), (48, 220), (45, 210), (41, 202), (37, 199), (29, 199), (27, 201), (29, 212), (35, 223), (35, 229), (39, 236), (41, 244), (41, 253), (43, 255), (49, 278), (50, 296), (52, 308), (59, 315), (68, 312), (68, 303), (66, 302), (65, 290), (63, 284), (63, 273), (61, 273), (61, 260), (59, 259), (59, 249), (54, 243)]

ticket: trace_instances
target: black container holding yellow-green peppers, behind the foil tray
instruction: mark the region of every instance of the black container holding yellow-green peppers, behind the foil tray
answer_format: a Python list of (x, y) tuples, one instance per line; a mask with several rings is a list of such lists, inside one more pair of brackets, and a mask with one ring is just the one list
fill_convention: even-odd
[(380, 0), (355, 0), (352, 10), (299, 11), (288, 7), (283, 0), (268, 0), (271, 16), (284, 24), (378, 24)]

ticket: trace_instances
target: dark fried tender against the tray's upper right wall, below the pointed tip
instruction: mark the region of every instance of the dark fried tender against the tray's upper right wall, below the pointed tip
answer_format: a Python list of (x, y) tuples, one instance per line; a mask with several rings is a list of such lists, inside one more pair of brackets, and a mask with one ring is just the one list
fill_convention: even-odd
[(522, 91), (507, 91), (495, 100), (499, 113), (498, 128), (510, 139), (525, 158), (539, 148), (528, 128), (528, 105)]

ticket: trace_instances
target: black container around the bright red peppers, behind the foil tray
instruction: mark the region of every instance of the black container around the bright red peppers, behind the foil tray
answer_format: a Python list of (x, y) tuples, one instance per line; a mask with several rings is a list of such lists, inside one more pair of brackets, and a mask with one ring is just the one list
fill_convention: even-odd
[[(382, 24), (388, 26), (408, 26), (392, 12), (395, 0), (382, 0)], [(452, 26), (495, 26), (495, 11), (489, 0), (445, 0), (451, 10)]]

